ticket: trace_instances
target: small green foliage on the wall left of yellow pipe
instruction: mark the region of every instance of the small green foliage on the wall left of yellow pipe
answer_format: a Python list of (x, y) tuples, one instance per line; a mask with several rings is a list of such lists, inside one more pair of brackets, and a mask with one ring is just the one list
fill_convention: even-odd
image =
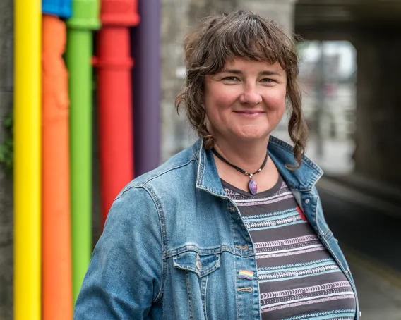
[(6, 139), (0, 143), (0, 166), (7, 176), (13, 175), (13, 111), (3, 119), (3, 128)]

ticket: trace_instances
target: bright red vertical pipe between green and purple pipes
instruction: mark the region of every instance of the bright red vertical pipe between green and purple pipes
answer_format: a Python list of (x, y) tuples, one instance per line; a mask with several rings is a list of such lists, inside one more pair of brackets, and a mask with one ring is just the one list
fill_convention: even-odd
[(129, 27), (139, 23), (136, 0), (102, 0), (97, 37), (102, 226), (119, 191), (133, 179)]

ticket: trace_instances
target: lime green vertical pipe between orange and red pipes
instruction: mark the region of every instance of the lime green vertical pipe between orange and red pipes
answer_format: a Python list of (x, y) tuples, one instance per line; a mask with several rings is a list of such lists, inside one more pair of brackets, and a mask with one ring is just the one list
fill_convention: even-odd
[(73, 0), (67, 22), (70, 97), (73, 301), (92, 254), (92, 29), (100, 27), (99, 1)]

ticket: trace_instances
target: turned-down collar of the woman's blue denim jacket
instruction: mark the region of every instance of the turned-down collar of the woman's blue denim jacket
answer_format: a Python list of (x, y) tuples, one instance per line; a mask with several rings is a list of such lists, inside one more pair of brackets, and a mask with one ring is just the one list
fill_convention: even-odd
[[(277, 166), (282, 178), (292, 190), (310, 191), (316, 182), (323, 176), (323, 171), (306, 156), (302, 157), (299, 169), (289, 169), (288, 166), (296, 165), (294, 148), (286, 142), (270, 135), (268, 154)], [(198, 161), (198, 175), (196, 187), (217, 195), (227, 197), (220, 182), (213, 153), (203, 147), (203, 139), (193, 144), (193, 156)]]

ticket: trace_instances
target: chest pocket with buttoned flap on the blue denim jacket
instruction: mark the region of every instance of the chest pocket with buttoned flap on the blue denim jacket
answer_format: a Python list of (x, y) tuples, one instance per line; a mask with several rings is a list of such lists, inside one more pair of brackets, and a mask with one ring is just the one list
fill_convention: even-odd
[(173, 263), (177, 273), (181, 273), (179, 278), (185, 279), (189, 313), (186, 319), (208, 319), (207, 305), (210, 297), (213, 298), (213, 293), (208, 297), (208, 280), (220, 268), (220, 254), (187, 251), (176, 254)]

